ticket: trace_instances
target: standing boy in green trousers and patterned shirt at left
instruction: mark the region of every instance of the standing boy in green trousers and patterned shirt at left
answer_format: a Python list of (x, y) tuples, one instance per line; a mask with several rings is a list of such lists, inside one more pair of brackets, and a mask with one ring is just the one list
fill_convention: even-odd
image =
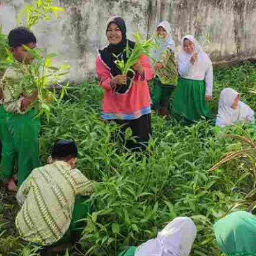
[[(35, 35), (26, 28), (19, 27), (8, 35), (10, 51), (16, 61), (26, 68), (33, 61), (33, 54), (27, 48), (36, 46)], [(26, 45), (26, 47), (24, 47)], [(7, 68), (1, 79), (0, 136), (3, 143), (1, 179), (6, 189), (17, 191), (31, 170), (38, 167), (38, 133), (40, 120), (35, 118), (36, 109), (31, 103), (37, 99), (38, 92), (25, 93), (22, 89), (24, 76), (15, 68)], [(17, 178), (14, 168), (17, 165)]]

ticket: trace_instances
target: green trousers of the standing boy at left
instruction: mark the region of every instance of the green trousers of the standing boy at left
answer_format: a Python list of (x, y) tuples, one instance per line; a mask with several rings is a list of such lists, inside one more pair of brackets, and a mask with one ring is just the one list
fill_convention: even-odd
[(8, 180), (14, 175), (15, 166), (18, 173), (18, 187), (37, 168), (38, 134), (40, 119), (35, 118), (38, 111), (30, 109), (27, 113), (16, 114), (0, 108), (0, 138), (3, 144), (1, 172), (2, 180)]

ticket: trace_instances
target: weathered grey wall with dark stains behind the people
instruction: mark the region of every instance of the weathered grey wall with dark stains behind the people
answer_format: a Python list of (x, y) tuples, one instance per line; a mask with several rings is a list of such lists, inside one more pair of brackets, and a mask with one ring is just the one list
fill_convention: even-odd
[[(25, 0), (25, 3), (29, 0)], [(0, 0), (0, 24), (8, 33), (23, 0)], [(127, 22), (129, 37), (140, 31), (150, 35), (159, 20), (169, 20), (179, 48), (182, 36), (190, 33), (200, 42), (206, 34), (211, 44), (205, 51), (214, 61), (256, 58), (255, 0), (59, 0), (65, 14), (56, 22), (33, 28), (45, 52), (61, 52), (58, 61), (72, 65), (70, 78), (94, 76), (95, 54), (106, 42), (106, 21), (120, 15)]]

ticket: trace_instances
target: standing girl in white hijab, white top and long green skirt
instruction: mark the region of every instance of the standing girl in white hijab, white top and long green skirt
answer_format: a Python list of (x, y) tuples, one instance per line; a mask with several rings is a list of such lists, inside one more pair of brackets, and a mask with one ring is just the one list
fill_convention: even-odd
[(180, 77), (173, 112), (188, 123), (211, 119), (208, 101), (212, 99), (212, 62), (194, 36), (182, 39), (178, 67)]

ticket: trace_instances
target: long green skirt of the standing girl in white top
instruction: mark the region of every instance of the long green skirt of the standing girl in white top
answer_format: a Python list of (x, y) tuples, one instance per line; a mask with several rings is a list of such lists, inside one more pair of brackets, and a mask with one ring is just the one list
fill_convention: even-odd
[(209, 104), (205, 100), (205, 81), (179, 78), (173, 114), (189, 122), (212, 119)]

